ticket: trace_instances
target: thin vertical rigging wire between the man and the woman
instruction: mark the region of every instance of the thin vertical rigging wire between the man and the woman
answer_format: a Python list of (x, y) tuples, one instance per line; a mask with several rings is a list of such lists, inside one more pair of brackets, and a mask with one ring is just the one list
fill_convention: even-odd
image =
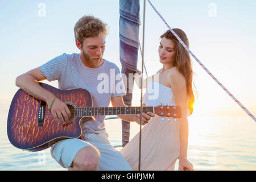
[[(144, 34), (145, 34), (145, 9), (146, 9), (146, 0), (144, 0), (143, 7), (143, 36), (142, 36), (142, 67), (141, 67), (141, 88), (143, 88), (143, 63), (144, 63)], [(142, 90), (141, 89), (141, 123), (139, 125), (139, 165), (138, 170), (141, 171), (141, 127), (142, 127)]]

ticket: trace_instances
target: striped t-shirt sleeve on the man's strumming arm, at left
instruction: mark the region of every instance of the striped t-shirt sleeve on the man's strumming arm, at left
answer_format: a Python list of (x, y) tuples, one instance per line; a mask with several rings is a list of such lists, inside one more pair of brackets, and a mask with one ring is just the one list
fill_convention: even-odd
[(43, 72), (48, 81), (53, 81), (60, 80), (66, 66), (67, 54), (63, 53), (63, 55), (57, 56), (52, 60), (49, 60), (47, 63), (41, 65), (39, 69)]

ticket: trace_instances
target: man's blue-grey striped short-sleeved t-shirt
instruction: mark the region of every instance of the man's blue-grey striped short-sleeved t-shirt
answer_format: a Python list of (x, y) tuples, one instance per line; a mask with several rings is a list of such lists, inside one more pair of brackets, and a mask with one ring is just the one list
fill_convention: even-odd
[[(112, 97), (126, 94), (119, 68), (107, 60), (98, 68), (89, 68), (82, 64), (80, 53), (63, 53), (39, 69), (48, 81), (58, 80), (61, 90), (88, 90), (94, 107), (108, 107)], [(85, 134), (105, 132), (104, 118), (102, 115), (96, 117), (95, 121), (85, 122)]]

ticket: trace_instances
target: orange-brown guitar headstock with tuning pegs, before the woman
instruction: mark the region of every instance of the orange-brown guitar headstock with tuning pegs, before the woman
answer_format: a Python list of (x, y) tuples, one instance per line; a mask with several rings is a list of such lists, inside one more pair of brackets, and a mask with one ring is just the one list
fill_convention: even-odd
[(159, 105), (154, 107), (155, 114), (159, 115), (160, 117), (171, 117), (171, 118), (180, 118), (180, 106), (163, 106)]

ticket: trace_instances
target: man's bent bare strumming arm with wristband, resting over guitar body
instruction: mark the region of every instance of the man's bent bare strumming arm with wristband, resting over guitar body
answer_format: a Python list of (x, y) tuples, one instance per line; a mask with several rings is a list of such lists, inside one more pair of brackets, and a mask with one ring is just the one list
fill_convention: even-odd
[[(38, 82), (43, 80), (46, 80), (46, 76), (39, 68), (35, 68), (18, 76), (16, 78), (16, 86), (31, 96), (46, 101), (47, 105), (50, 106), (55, 95), (40, 86)], [(62, 122), (68, 121), (68, 115), (71, 114), (68, 106), (59, 98), (56, 98), (53, 102), (51, 112), (55, 119), (59, 118)]]

